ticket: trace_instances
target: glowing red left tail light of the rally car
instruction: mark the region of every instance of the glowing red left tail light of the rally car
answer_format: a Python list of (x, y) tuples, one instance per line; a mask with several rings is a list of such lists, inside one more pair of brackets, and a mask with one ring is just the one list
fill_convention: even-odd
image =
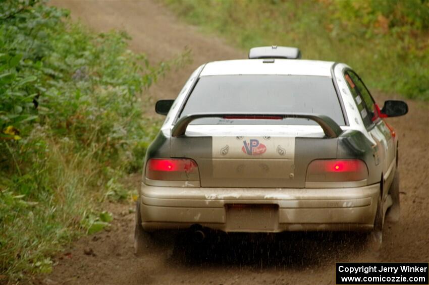
[(198, 165), (187, 158), (151, 158), (146, 178), (153, 180), (199, 181)]

